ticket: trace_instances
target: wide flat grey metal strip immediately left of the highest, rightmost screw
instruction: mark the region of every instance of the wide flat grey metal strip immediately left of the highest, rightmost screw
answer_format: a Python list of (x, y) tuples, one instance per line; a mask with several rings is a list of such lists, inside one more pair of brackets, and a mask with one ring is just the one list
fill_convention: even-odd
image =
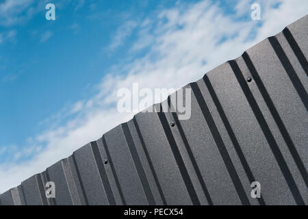
[[(257, 48), (260, 46), (259, 44)], [(266, 203), (283, 204), (287, 201), (287, 203), (295, 204), (287, 184), (281, 180), (283, 175), (276, 159), (274, 159), (268, 141), (264, 137), (264, 132), (261, 130), (231, 66), (224, 64), (207, 76), (216, 90), (235, 136), (238, 136), (238, 141), (253, 175), (263, 185), (262, 190)], [(245, 81), (245, 83), (248, 82)]]

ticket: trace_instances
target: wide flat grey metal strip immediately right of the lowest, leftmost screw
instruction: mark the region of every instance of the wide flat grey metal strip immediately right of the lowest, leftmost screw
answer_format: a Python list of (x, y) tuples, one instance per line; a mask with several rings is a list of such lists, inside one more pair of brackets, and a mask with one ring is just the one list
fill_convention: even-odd
[(127, 205), (141, 205), (142, 203), (154, 205), (153, 194), (127, 124), (105, 133), (103, 143), (110, 156), (107, 159), (114, 166), (125, 203)]

